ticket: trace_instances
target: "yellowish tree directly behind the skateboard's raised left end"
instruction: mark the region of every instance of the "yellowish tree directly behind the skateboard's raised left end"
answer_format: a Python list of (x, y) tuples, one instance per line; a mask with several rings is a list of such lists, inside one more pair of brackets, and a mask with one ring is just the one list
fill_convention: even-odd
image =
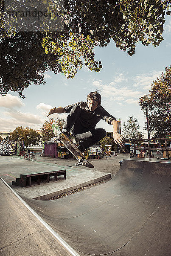
[(51, 117), (49, 121), (45, 121), (42, 128), (40, 129), (40, 133), (42, 134), (42, 140), (48, 141), (50, 140), (50, 138), (55, 137), (52, 131), (53, 122), (56, 122), (59, 125), (60, 129), (62, 130), (64, 125), (64, 119), (62, 118), (54, 119), (53, 117)]

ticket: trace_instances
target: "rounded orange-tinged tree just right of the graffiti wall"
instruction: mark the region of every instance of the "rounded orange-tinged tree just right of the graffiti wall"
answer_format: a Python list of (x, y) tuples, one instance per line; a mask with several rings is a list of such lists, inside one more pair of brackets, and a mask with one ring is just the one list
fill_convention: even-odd
[(24, 140), (25, 146), (38, 145), (40, 142), (40, 134), (32, 128), (18, 126), (10, 133), (10, 140)]

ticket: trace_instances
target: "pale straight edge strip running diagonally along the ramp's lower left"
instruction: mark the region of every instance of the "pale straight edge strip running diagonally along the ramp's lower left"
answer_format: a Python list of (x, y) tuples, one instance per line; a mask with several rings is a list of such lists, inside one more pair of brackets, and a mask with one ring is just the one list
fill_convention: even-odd
[(62, 237), (60, 237), (22, 198), (18, 195), (3, 178), (0, 178), (3, 183), (14, 193), (14, 195), (22, 202), (22, 204), (27, 207), (27, 209), (46, 227), (46, 229), (59, 241), (60, 244), (72, 255), (72, 256), (80, 256), (69, 244), (67, 244)]

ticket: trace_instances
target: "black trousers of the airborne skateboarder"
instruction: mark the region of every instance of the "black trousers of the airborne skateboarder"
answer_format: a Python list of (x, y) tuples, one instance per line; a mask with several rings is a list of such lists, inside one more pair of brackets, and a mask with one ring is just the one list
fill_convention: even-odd
[[(88, 123), (87, 127), (85, 127), (86, 119), (88, 120), (89, 115), (92, 114), (78, 106), (74, 106), (67, 116), (67, 120), (62, 129), (62, 131), (71, 132), (74, 136), (77, 134), (82, 135), (83, 142), (80, 143), (80, 147), (78, 147), (81, 151), (84, 151), (85, 148), (89, 148), (106, 136), (106, 131), (102, 128), (90, 128), (90, 124)], [(87, 132), (91, 133), (90, 137), (87, 138), (87, 134), (85, 134), (84, 138), (84, 133)]]

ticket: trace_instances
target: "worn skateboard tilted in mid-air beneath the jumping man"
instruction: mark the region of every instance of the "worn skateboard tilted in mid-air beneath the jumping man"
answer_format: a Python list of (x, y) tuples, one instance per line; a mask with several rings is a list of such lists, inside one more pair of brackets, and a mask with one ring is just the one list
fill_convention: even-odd
[(83, 165), (89, 168), (94, 168), (93, 164), (89, 163), (87, 159), (85, 158), (84, 154), (81, 153), (81, 151), (76, 147), (76, 145), (73, 144), (73, 142), (61, 132), (58, 124), (56, 122), (52, 123), (52, 130), (53, 133), (56, 136), (56, 140), (60, 140), (64, 146), (73, 154), (74, 157), (78, 160), (77, 163), (75, 163), (75, 166)]

